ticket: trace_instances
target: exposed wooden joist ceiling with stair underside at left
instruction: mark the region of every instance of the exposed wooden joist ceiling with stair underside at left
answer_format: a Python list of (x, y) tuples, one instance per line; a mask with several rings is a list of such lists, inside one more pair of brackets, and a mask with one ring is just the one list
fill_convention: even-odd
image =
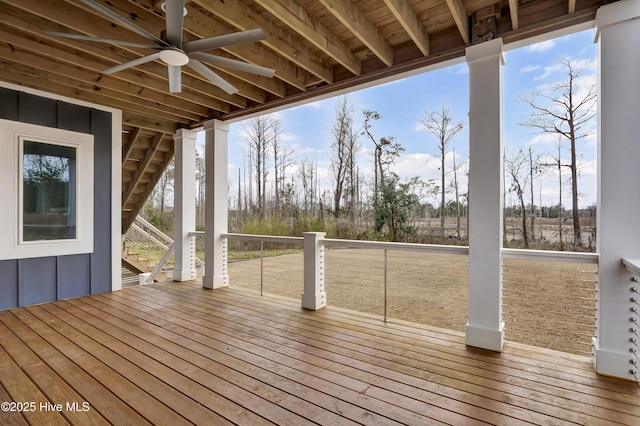
[[(266, 39), (209, 53), (275, 70), (275, 77), (213, 67), (228, 94), (189, 67), (169, 93), (160, 60), (106, 68), (149, 49), (45, 31), (149, 44), (80, 0), (0, 0), (0, 80), (123, 111), (123, 231), (173, 156), (172, 135), (212, 118), (238, 119), (461, 57), (466, 46), (518, 41), (592, 20), (617, 0), (187, 0), (185, 40), (262, 28)], [(97, 0), (161, 37), (159, 0)]]

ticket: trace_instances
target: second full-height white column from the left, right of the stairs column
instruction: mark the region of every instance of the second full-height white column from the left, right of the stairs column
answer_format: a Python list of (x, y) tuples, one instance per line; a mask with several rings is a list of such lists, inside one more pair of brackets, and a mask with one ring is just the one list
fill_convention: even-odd
[(205, 288), (229, 285), (227, 273), (227, 157), (229, 125), (220, 120), (204, 123), (205, 132)]

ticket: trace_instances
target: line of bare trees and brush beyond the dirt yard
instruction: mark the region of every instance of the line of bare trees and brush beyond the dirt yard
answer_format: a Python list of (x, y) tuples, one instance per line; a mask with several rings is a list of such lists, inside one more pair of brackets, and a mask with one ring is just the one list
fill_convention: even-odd
[[(542, 222), (536, 235), (536, 221), (554, 218), (559, 246), (552, 248), (566, 248), (563, 231), (567, 233), (567, 224), (572, 229), (571, 248), (583, 246), (578, 142), (590, 134), (588, 124), (595, 115), (596, 91), (582, 84), (583, 68), (563, 58), (559, 61), (566, 79), (523, 97), (531, 112), (520, 123), (556, 135), (556, 152), (541, 154), (527, 147), (505, 153), (505, 245), (517, 241), (525, 248), (539, 247), (546, 237), (542, 235)], [(357, 111), (347, 96), (338, 99), (328, 123), (330, 187), (319, 183), (317, 159), (296, 156), (283, 141), (282, 124), (277, 118), (264, 115), (248, 120), (244, 124), (244, 164), (238, 168), (237, 185), (229, 188), (231, 231), (299, 235), (323, 230), (338, 238), (465, 244), (469, 193), (460, 178), (466, 161), (457, 160), (453, 147), (464, 124), (456, 122), (444, 104), (438, 110), (424, 111), (419, 124), (428, 134), (425, 142), (433, 149), (431, 157), (438, 161), (440, 176), (403, 180), (393, 172), (393, 166), (405, 148), (394, 136), (377, 133), (376, 123), (383, 119), (376, 111)], [(566, 147), (569, 155), (565, 157)], [(197, 224), (202, 227), (204, 160), (198, 155), (196, 163), (196, 214)], [(563, 170), (567, 171), (564, 175)], [(558, 176), (561, 197), (569, 177), (568, 210), (562, 198), (553, 206), (541, 207), (535, 202), (534, 181), (551, 172)], [(172, 178), (170, 166), (147, 204), (148, 216), (163, 217)], [(506, 205), (508, 194), (515, 197), (515, 204)], [(517, 234), (512, 218), (519, 221)]]

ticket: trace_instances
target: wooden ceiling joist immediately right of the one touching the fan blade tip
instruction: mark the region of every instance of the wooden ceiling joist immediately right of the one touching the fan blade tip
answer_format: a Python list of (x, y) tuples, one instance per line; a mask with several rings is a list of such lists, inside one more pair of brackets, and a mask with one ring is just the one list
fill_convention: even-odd
[(362, 64), (353, 52), (299, 4), (283, 0), (256, 0), (256, 3), (353, 74), (362, 73)]

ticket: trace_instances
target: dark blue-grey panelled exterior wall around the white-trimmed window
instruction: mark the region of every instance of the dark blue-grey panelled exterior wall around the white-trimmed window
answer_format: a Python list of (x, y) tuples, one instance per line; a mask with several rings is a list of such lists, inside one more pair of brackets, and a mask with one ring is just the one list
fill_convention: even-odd
[(111, 291), (112, 114), (0, 87), (0, 118), (94, 136), (93, 253), (0, 261), (0, 309)]

